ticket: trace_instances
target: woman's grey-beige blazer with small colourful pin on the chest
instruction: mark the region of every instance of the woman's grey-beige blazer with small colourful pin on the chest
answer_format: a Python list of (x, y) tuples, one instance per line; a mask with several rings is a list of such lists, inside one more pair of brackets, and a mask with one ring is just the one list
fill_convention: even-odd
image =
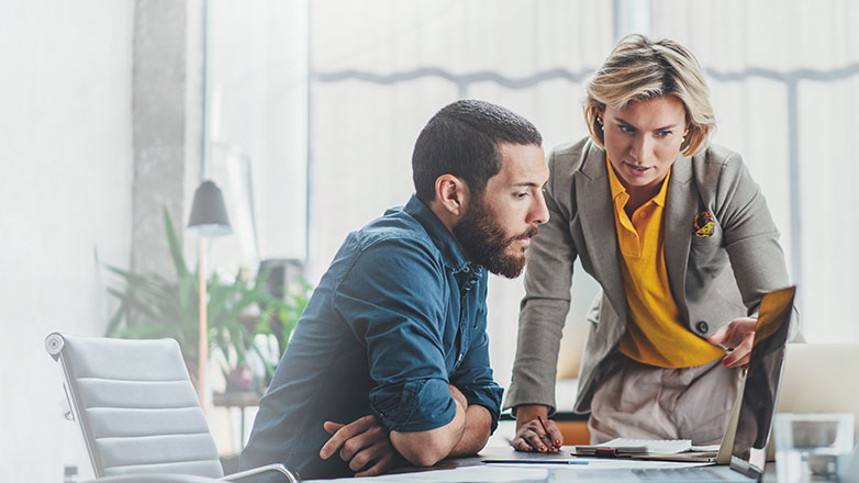
[[(585, 138), (553, 150), (548, 164), (550, 218), (527, 251), (526, 293), (504, 407), (543, 404), (554, 412), (558, 349), (579, 257), (602, 287), (587, 316), (590, 333), (579, 373), (576, 412), (585, 413), (627, 316), (605, 150)], [(716, 227), (711, 236), (699, 237), (695, 216), (705, 210)], [(779, 232), (736, 153), (711, 146), (691, 158), (678, 156), (663, 227), (671, 293), (689, 329), (701, 337), (754, 314), (763, 293), (789, 284)]]

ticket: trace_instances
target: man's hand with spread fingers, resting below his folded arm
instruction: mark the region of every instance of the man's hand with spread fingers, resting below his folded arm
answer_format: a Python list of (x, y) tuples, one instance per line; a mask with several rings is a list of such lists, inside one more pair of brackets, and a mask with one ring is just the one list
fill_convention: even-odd
[(325, 422), (328, 434), (333, 435), (320, 450), (320, 458), (327, 460), (339, 450), (343, 461), (349, 463), (352, 471), (364, 471), (356, 476), (382, 474), (393, 468), (399, 454), (391, 446), (388, 429), (375, 415), (364, 416), (343, 425)]

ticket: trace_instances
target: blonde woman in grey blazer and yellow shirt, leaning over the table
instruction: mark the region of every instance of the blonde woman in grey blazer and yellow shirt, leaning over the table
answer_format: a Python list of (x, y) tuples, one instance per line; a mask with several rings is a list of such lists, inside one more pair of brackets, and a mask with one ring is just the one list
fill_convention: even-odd
[(591, 413), (591, 442), (718, 443), (760, 297), (789, 284), (778, 229), (739, 155), (709, 145), (715, 117), (687, 48), (628, 35), (587, 91), (590, 136), (550, 154), (550, 220), (528, 250), (505, 402), (513, 446), (562, 443), (554, 423), (547, 435), (536, 418), (554, 412), (577, 257), (602, 288), (576, 402)]

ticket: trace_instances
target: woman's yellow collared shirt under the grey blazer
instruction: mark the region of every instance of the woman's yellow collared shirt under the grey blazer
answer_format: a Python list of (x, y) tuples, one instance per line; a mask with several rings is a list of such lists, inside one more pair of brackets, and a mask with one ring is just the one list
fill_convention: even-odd
[[(660, 368), (689, 368), (711, 362), (725, 352), (694, 335), (680, 319), (665, 265), (662, 213), (668, 179), (656, 196), (626, 215), (629, 200), (609, 164), (609, 182), (614, 204), (614, 226), (621, 247), (621, 272), (628, 307), (626, 333), (620, 350), (626, 357)], [(690, 229), (692, 229), (690, 227)]]

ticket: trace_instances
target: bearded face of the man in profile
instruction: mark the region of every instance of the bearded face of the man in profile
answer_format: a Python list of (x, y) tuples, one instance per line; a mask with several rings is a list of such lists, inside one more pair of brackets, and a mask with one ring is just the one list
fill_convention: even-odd
[(454, 236), (469, 261), (492, 273), (515, 278), (525, 268), (525, 250), (537, 226), (549, 220), (543, 186), (549, 178), (543, 148), (499, 144), (501, 171), (471, 196)]

